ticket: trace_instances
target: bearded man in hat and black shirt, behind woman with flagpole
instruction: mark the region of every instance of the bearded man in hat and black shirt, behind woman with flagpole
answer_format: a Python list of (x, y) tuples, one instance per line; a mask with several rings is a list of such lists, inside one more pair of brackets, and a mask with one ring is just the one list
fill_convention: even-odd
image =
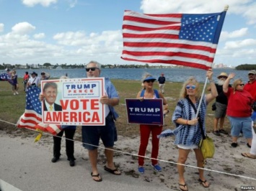
[[(228, 134), (223, 127), (226, 116), (226, 106), (228, 104), (228, 98), (226, 98), (226, 95), (224, 94), (222, 88), (226, 78), (228, 78), (228, 75), (226, 73), (220, 73), (220, 75), (218, 75), (217, 78), (218, 82), (215, 83), (215, 85), (218, 91), (218, 96), (216, 97), (216, 110), (213, 125), (213, 134), (215, 134), (216, 136), (221, 136), (221, 134)], [(231, 85), (229, 85), (229, 87), (231, 87)], [(208, 90), (211, 90), (211, 88), (208, 88)]]

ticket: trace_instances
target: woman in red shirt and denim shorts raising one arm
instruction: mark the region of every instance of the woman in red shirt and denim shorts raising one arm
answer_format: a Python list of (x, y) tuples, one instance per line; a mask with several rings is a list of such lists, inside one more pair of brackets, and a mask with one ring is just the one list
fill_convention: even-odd
[(226, 115), (229, 117), (231, 124), (232, 147), (237, 147), (237, 139), (242, 131), (244, 138), (247, 139), (247, 146), (252, 144), (252, 95), (244, 90), (244, 83), (241, 79), (234, 80), (233, 88), (229, 88), (228, 84), (235, 76), (234, 73), (229, 74), (223, 85), (223, 91), (228, 98), (228, 107)]

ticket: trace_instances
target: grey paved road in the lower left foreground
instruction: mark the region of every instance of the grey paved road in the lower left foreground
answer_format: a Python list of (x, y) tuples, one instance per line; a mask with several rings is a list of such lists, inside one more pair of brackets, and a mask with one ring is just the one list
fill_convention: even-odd
[(54, 164), (50, 162), (51, 149), (38, 146), (32, 138), (15, 138), (1, 132), (1, 191), (169, 190), (164, 184), (141, 181), (124, 173), (112, 175), (103, 167), (100, 167), (103, 181), (94, 182), (88, 162), (81, 157), (76, 158), (75, 167), (69, 167), (66, 156)]

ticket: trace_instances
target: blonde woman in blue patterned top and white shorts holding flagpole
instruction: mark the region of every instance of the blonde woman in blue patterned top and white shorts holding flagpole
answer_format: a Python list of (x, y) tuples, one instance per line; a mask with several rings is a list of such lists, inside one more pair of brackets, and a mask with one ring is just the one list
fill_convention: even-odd
[[(190, 150), (193, 149), (198, 167), (203, 168), (203, 155), (198, 147), (200, 140), (202, 139), (200, 126), (203, 127), (203, 131), (205, 133), (206, 106), (218, 95), (216, 85), (212, 80), (213, 72), (208, 70), (206, 76), (211, 84), (211, 93), (203, 95), (203, 101), (200, 108), (198, 108), (200, 102), (199, 83), (194, 77), (190, 77), (182, 86), (180, 91), (180, 100), (177, 102), (177, 106), (175, 107), (175, 111), (172, 115), (172, 121), (175, 123), (177, 128), (180, 128), (180, 131), (177, 132), (175, 137), (175, 144), (179, 149), (179, 157), (177, 160), (179, 187), (180, 190), (183, 191), (188, 190), (184, 177), (185, 166), (179, 164), (185, 164)], [(196, 110), (199, 109), (198, 118), (195, 118), (196, 112), (192, 104), (195, 106)], [(203, 169), (198, 169), (198, 172), (198, 182), (200, 182), (203, 187), (209, 187), (209, 183), (203, 175)]]

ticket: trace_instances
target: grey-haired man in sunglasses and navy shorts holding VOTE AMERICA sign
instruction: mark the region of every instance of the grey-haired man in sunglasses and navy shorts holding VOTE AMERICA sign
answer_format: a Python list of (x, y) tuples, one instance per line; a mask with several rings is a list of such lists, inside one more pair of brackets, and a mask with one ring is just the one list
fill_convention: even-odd
[[(86, 67), (87, 78), (100, 77), (101, 65), (99, 62), (91, 61)], [(118, 118), (118, 113), (115, 112), (114, 106), (119, 103), (118, 92), (115, 86), (110, 82), (109, 78), (105, 78), (105, 95), (100, 98), (100, 103), (105, 106), (105, 126), (82, 126), (82, 141), (85, 149), (88, 149), (89, 160), (92, 165), (92, 179), (96, 182), (101, 182), (102, 178), (97, 169), (97, 157), (100, 139), (105, 146), (105, 156), (107, 164), (104, 169), (111, 174), (120, 175), (121, 172), (115, 168), (113, 162), (113, 146), (117, 139), (115, 129), (115, 119)]]

